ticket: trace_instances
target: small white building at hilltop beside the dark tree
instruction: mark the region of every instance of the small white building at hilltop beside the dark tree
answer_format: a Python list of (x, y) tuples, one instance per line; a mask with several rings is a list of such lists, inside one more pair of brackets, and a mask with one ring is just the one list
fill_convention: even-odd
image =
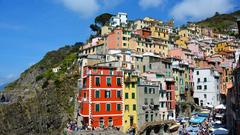
[(127, 24), (127, 13), (118, 12), (116, 16), (110, 18), (110, 25), (113, 27)]

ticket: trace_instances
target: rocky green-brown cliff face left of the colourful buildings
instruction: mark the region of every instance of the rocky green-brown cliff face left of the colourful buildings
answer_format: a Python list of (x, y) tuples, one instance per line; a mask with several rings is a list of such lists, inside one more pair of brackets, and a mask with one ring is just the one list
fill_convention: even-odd
[[(79, 45), (47, 55), (1, 94), (0, 134), (61, 134), (73, 118)], [(57, 73), (52, 68), (61, 67)]]

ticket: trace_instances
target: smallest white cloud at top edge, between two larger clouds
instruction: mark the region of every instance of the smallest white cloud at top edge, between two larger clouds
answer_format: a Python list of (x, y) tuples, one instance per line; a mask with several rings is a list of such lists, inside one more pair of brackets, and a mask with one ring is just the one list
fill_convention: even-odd
[(138, 4), (143, 9), (155, 8), (160, 6), (163, 0), (139, 0)]

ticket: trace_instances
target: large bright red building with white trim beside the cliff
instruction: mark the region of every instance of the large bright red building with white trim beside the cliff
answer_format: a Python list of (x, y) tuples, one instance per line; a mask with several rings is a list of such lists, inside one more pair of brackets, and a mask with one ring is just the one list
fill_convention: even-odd
[(85, 126), (93, 128), (122, 126), (122, 82), (123, 73), (115, 67), (83, 68), (79, 114)]

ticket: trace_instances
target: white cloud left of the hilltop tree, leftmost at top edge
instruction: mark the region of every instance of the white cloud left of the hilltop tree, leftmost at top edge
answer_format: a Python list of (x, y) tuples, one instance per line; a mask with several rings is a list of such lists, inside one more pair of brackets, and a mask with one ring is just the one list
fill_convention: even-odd
[(62, 2), (66, 8), (85, 18), (94, 15), (99, 10), (97, 0), (62, 0)]

